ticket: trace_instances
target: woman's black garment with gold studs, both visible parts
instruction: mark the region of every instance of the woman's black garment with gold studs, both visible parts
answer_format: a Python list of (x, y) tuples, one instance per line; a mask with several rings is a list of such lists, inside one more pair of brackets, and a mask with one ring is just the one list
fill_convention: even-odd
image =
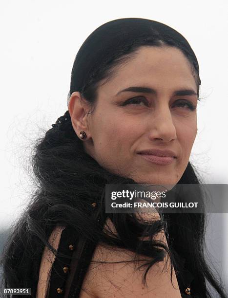
[[(79, 298), (83, 279), (89, 267), (96, 245), (83, 240), (75, 234), (75, 230), (66, 227), (62, 231), (57, 258), (52, 267), (48, 298)], [(61, 256), (61, 253), (69, 258)], [(79, 258), (79, 261), (75, 259)], [(191, 282), (194, 276), (185, 267), (185, 260), (179, 259), (180, 265), (175, 269), (181, 296), (183, 298), (198, 298), (191, 290)], [(69, 272), (73, 268), (74, 272), (69, 279)], [(190, 295), (188, 289), (190, 290)]]

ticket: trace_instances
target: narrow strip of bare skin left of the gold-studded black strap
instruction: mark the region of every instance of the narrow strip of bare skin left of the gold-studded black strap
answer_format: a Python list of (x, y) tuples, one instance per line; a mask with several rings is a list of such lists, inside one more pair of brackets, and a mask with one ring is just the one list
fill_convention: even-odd
[[(58, 249), (59, 247), (61, 234), (64, 228), (65, 228), (64, 226), (56, 226), (49, 237), (49, 243), (55, 249)], [(42, 254), (42, 259), (41, 259), (36, 298), (45, 297), (45, 293), (49, 284), (50, 272), (54, 261), (55, 261), (55, 255), (50, 249), (45, 247)]]

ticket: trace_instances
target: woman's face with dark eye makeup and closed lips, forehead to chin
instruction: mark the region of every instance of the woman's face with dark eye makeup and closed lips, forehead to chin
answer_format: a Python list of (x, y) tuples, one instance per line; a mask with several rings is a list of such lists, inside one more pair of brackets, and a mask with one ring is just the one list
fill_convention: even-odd
[[(196, 92), (191, 68), (180, 50), (141, 47), (98, 88), (87, 128), (80, 127), (87, 134), (85, 151), (104, 168), (137, 183), (175, 185), (196, 137), (197, 117), (192, 109), (197, 105)], [(79, 134), (78, 122), (73, 122)], [(140, 153), (150, 149), (155, 151)]]

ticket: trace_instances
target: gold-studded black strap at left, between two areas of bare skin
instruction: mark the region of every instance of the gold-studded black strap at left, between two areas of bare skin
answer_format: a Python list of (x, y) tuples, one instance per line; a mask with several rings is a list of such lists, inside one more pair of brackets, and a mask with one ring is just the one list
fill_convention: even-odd
[[(96, 245), (92, 246), (88, 241), (76, 235), (75, 230), (68, 227), (63, 229), (58, 254), (52, 266), (48, 289), (49, 298), (79, 297), (95, 248)], [(61, 253), (69, 258), (62, 257)], [(79, 261), (76, 260), (77, 258)], [(72, 277), (69, 279), (70, 270), (75, 270), (73, 279)]]

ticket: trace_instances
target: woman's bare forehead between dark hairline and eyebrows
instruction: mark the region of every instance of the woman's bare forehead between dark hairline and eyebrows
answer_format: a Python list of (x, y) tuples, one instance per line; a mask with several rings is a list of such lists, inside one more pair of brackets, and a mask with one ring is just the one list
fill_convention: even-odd
[[(104, 82), (104, 83), (103, 83)], [(191, 88), (196, 91), (191, 66), (181, 50), (174, 47), (140, 47), (129, 61), (118, 65), (114, 75), (101, 82), (99, 93), (116, 94), (129, 86), (150, 86), (157, 92)]]

